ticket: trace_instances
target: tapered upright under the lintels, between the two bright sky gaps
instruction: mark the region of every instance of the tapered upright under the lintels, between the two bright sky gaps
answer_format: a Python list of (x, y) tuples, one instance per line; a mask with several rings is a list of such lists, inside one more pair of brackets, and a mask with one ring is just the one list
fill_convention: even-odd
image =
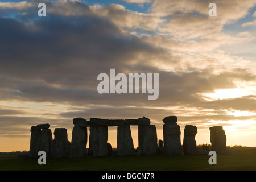
[(134, 155), (130, 125), (118, 125), (117, 127), (117, 155)]

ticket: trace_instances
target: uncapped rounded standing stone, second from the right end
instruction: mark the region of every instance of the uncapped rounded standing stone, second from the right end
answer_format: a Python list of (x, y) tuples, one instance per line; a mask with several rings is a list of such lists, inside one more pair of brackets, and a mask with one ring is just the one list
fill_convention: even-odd
[(184, 138), (183, 138), (183, 151), (185, 155), (196, 155), (196, 137), (197, 128), (193, 125), (186, 125), (184, 129)]

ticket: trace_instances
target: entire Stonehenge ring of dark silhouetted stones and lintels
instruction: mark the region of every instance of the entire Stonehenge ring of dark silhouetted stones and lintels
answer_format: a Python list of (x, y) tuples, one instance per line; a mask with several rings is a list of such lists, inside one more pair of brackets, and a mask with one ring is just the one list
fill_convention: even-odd
[[(45, 151), (47, 158), (85, 158), (86, 156), (129, 156), (129, 155), (197, 155), (195, 136), (197, 127), (184, 127), (183, 146), (180, 141), (180, 126), (176, 116), (163, 118), (163, 140), (157, 137), (156, 126), (146, 117), (138, 119), (73, 118), (72, 140), (68, 141), (65, 128), (55, 128), (54, 139), (50, 125), (32, 126), (30, 137), (30, 158), (38, 158), (39, 151)], [(117, 126), (117, 148), (108, 143), (108, 127)], [(138, 126), (138, 147), (134, 148), (130, 126)], [(88, 140), (89, 127), (89, 141)], [(210, 127), (212, 150), (226, 150), (226, 135), (222, 126)], [(87, 144), (89, 147), (86, 148)]]

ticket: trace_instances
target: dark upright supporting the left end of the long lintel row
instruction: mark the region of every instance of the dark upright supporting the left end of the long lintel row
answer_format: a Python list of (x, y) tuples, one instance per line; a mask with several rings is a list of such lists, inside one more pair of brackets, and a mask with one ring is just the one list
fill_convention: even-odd
[(71, 140), (71, 158), (84, 158), (86, 156), (87, 128), (73, 127)]

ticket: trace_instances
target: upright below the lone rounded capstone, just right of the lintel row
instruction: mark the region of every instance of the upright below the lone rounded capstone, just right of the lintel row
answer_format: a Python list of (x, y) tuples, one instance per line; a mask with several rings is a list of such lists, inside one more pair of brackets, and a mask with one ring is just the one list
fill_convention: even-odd
[(182, 147), (180, 143), (180, 126), (167, 123), (163, 125), (164, 154), (180, 155)]

